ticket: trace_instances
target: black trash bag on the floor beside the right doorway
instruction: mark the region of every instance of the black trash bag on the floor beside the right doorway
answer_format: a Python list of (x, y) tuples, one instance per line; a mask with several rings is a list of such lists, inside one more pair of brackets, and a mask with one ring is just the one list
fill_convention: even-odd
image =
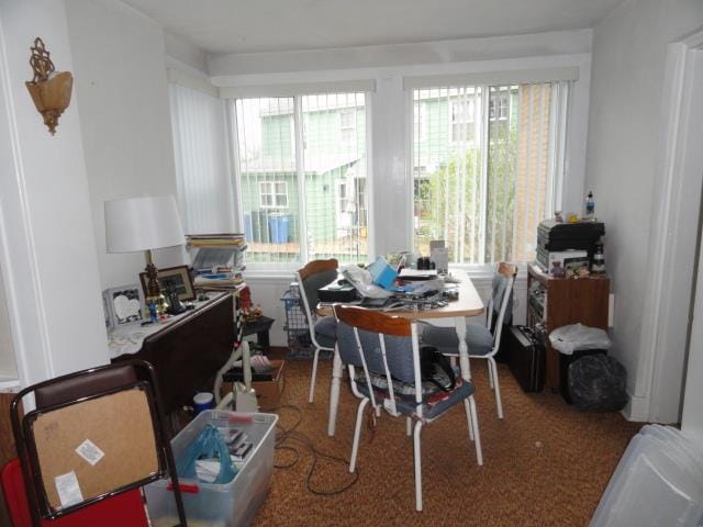
[(616, 412), (627, 404), (625, 367), (605, 355), (589, 355), (569, 365), (569, 393), (584, 412)]

